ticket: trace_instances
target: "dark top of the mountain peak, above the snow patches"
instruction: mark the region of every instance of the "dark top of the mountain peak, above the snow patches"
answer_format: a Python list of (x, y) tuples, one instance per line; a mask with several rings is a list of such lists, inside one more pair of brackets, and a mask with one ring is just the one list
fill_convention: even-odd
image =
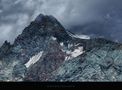
[(34, 38), (34, 37), (56, 37), (58, 41), (64, 41), (70, 36), (65, 31), (65, 28), (60, 24), (60, 22), (51, 15), (40, 14), (37, 18), (31, 22), (31, 24), (26, 27), (22, 34), (17, 37), (15, 42), (24, 38)]

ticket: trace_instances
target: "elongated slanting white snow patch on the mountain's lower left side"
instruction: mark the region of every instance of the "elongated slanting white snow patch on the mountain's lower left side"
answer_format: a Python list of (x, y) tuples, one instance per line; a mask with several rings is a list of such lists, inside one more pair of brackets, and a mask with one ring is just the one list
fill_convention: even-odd
[(28, 68), (31, 65), (35, 64), (41, 58), (42, 54), (43, 54), (43, 51), (39, 52), (37, 55), (30, 58), (30, 60), (25, 64), (25, 66)]

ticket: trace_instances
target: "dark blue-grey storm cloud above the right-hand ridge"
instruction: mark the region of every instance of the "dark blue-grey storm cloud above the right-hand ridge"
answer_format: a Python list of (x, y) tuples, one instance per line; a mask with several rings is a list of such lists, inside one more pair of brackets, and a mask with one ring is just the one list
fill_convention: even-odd
[(94, 12), (95, 16), (101, 19), (82, 25), (74, 25), (77, 27), (77, 33), (88, 34), (91, 36), (100, 36), (110, 40), (122, 42), (122, 1), (121, 0), (106, 0)]

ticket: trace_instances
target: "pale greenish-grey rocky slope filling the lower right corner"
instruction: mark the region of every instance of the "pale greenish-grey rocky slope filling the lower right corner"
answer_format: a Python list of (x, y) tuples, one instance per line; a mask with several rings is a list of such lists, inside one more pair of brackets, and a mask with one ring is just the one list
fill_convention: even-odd
[(122, 48), (105, 44), (66, 61), (54, 73), (51, 81), (122, 81)]

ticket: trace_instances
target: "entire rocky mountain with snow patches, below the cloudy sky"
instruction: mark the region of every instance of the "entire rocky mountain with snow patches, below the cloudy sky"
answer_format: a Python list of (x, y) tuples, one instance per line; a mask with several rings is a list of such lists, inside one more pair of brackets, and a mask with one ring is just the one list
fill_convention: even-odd
[(85, 37), (40, 14), (1, 46), (0, 81), (122, 81), (122, 44)]

